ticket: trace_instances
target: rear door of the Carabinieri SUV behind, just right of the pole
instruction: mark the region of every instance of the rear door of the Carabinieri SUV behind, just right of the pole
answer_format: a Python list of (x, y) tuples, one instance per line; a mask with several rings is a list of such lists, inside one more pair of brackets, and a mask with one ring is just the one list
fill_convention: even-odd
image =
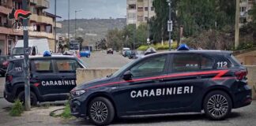
[(40, 95), (58, 94), (58, 74), (56, 74), (51, 58), (39, 58), (31, 60), (31, 84), (40, 91)]

